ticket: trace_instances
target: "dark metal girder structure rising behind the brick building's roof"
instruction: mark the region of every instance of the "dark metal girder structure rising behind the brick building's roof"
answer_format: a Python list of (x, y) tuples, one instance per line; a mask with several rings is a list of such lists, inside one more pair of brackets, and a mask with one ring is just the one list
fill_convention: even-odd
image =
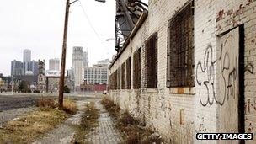
[(141, 0), (116, 0), (115, 50), (120, 51), (141, 14), (147, 11)]

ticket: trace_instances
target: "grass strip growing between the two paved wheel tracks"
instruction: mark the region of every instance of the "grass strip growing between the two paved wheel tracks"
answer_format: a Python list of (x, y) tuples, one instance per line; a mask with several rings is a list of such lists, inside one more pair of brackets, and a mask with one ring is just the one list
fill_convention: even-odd
[(88, 143), (87, 136), (89, 131), (93, 131), (99, 125), (99, 109), (95, 108), (94, 103), (86, 104), (83, 109), (81, 123), (77, 127), (77, 133), (72, 143)]

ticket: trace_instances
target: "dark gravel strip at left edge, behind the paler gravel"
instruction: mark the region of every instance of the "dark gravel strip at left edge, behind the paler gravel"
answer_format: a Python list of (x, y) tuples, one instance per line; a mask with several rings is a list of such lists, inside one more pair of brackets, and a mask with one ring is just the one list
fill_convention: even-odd
[(0, 112), (4, 110), (26, 108), (35, 105), (36, 99), (39, 97), (0, 95)]

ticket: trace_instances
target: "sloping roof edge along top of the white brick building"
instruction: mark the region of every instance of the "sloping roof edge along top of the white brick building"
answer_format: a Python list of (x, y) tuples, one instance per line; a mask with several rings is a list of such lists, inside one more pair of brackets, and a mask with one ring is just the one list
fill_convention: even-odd
[(128, 38), (125, 41), (125, 44), (123, 48), (117, 53), (115, 58), (111, 61), (111, 64), (109, 65), (109, 69), (115, 64), (115, 61), (121, 56), (121, 54), (125, 51), (126, 47), (130, 44), (130, 40), (136, 35), (136, 32), (141, 28), (141, 25), (144, 23), (144, 21), (147, 19), (147, 10), (144, 10), (141, 14), (140, 18), (138, 19), (138, 22), (134, 26), (134, 28), (131, 30), (131, 33), (129, 34)]

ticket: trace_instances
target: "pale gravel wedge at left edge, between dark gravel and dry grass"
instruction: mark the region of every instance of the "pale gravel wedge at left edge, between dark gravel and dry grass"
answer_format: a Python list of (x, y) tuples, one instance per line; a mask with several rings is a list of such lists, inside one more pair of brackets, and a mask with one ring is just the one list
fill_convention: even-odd
[(29, 107), (0, 112), (0, 127), (2, 127), (8, 121), (13, 120), (14, 118), (17, 118), (20, 115), (24, 115), (25, 113), (28, 113), (30, 111), (34, 111), (35, 109), (35, 107)]

